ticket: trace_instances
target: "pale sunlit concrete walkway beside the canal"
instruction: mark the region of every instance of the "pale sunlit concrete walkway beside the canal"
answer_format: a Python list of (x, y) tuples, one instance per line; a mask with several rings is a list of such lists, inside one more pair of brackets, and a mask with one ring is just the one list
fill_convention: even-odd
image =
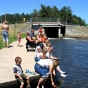
[[(26, 40), (22, 39), (22, 47), (17, 47), (17, 41), (10, 44), (10, 48), (3, 48), (0, 50), (0, 83), (9, 82), (15, 80), (13, 74), (13, 66), (15, 64), (15, 57), (20, 56), (22, 58), (23, 71), (29, 69), (34, 71), (34, 57), (35, 52), (26, 52), (25, 48)], [(28, 76), (34, 76), (27, 74)]]

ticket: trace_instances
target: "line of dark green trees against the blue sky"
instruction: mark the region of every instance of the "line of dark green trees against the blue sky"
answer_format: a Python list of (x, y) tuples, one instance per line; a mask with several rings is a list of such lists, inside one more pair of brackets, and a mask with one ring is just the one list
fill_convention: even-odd
[[(21, 23), (23, 22), (23, 18), (26, 19), (26, 21), (30, 21), (31, 17), (35, 18), (45, 18), (45, 17), (51, 17), (51, 18), (58, 18), (60, 22), (64, 24), (72, 24), (72, 25), (80, 25), (80, 26), (86, 26), (87, 23), (84, 19), (81, 17), (76, 16), (75, 14), (72, 14), (72, 9), (69, 6), (64, 6), (60, 10), (56, 7), (50, 7), (45, 6), (41, 4), (41, 9), (37, 11), (38, 9), (34, 9), (31, 14), (6, 14), (6, 20), (9, 23)], [(0, 16), (0, 22), (5, 20), (5, 14)]]

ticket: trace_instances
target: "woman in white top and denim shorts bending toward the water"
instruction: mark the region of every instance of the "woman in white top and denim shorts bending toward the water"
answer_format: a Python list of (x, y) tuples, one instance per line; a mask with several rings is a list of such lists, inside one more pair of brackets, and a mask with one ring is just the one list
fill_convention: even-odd
[[(41, 55), (41, 58), (43, 56)], [(42, 83), (42, 88), (44, 88), (44, 83), (46, 82), (46, 80), (48, 79), (49, 75), (50, 75), (50, 79), (51, 79), (51, 84), (54, 88), (56, 88), (56, 85), (54, 84), (53, 81), (53, 68), (56, 67), (57, 64), (54, 64), (52, 60), (50, 59), (40, 59), (38, 62), (36, 62), (34, 69), (35, 72), (37, 72), (38, 74), (40, 74), (40, 79), (38, 81), (37, 84), (37, 88), (39, 88), (40, 84)]]

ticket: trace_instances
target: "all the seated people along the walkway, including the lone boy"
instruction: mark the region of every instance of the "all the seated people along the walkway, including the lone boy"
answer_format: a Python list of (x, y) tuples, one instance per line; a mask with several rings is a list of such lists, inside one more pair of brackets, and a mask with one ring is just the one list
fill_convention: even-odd
[[(31, 46), (35, 47), (36, 56), (34, 57), (34, 60), (36, 63), (34, 65), (34, 70), (40, 75), (40, 79), (36, 88), (40, 88), (40, 86), (44, 88), (44, 84), (49, 77), (52, 86), (56, 88), (56, 84), (54, 82), (56, 71), (59, 72), (60, 76), (62, 77), (67, 76), (64, 74), (65, 72), (60, 69), (60, 58), (56, 58), (52, 55), (53, 46), (48, 40), (47, 35), (45, 35), (43, 32), (40, 32), (39, 30), (39, 34), (36, 36), (36, 38), (34, 36), (34, 30), (31, 30), (31, 33), (26, 32), (26, 49), (28, 51), (28, 45), (30, 44), (30, 42)], [(21, 83), (20, 88), (23, 88), (24, 86), (23, 78), (27, 79), (27, 88), (31, 88), (29, 77), (23, 74), (23, 70), (21, 67), (22, 59), (20, 57), (16, 57), (15, 62), (16, 64), (13, 67), (13, 71), (15, 78)]]

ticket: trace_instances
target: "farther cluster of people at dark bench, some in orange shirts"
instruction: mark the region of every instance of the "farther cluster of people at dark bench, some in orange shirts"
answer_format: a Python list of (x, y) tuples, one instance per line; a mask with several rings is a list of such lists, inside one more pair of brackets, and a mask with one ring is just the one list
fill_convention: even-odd
[[(41, 28), (39, 28), (41, 29)], [(31, 30), (31, 33), (29, 31), (26, 32), (26, 49), (27, 52), (29, 52), (29, 47), (36, 48), (37, 44), (39, 42), (45, 42), (47, 39), (47, 36), (44, 34), (43, 30), (39, 30), (38, 35), (34, 34), (34, 29)]]

